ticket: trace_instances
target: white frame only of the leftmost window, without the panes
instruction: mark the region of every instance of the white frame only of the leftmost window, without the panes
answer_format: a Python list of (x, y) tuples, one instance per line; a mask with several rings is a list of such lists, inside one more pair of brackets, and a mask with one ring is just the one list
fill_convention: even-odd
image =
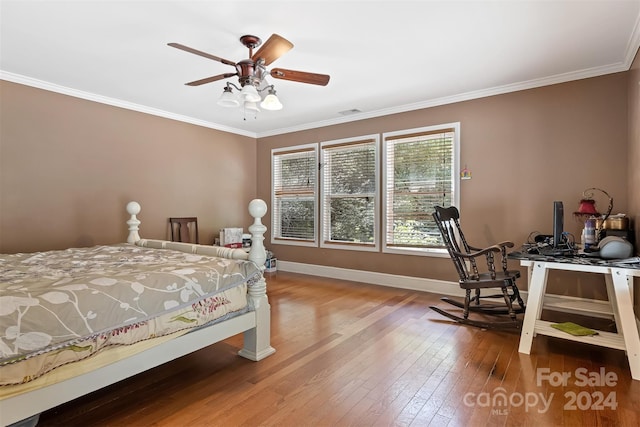
[(308, 246), (308, 247), (318, 247), (318, 168), (315, 168), (315, 185), (313, 187), (313, 236), (312, 240), (307, 239), (295, 239), (295, 238), (283, 238), (278, 236), (278, 232), (280, 230), (280, 217), (278, 215), (279, 209), (276, 209), (278, 203), (278, 197), (276, 197), (276, 168), (275, 162), (276, 157), (278, 155), (286, 154), (286, 153), (295, 153), (297, 151), (310, 151), (314, 154), (315, 164), (318, 165), (318, 144), (304, 144), (297, 145), (292, 147), (284, 147), (284, 148), (274, 148), (271, 150), (271, 244), (277, 245), (294, 245), (294, 246)]

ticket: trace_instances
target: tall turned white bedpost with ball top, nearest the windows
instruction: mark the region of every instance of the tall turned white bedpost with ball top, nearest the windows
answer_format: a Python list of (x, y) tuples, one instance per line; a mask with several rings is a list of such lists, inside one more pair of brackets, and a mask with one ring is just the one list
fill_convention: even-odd
[[(262, 217), (267, 213), (267, 204), (264, 200), (254, 199), (249, 203), (249, 213), (254, 218), (253, 224), (249, 226), (251, 232), (249, 260), (264, 270), (267, 252), (263, 242), (267, 227), (262, 224)], [(258, 361), (276, 351), (271, 347), (271, 306), (267, 298), (267, 282), (264, 277), (249, 286), (248, 293), (249, 302), (255, 308), (256, 327), (244, 333), (244, 348), (238, 354)]]

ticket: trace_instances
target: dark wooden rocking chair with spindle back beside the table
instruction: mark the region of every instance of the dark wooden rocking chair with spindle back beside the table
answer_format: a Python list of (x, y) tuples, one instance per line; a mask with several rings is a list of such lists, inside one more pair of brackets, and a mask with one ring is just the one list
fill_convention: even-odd
[[(487, 248), (470, 246), (460, 228), (460, 212), (455, 206), (449, 208), (436, 206), (433, 218), (440, 230), (451, 260), (460, 275), (459, 284), (465, 290), (465, 299), (464, 303), (460, 303), (450, 298), (441, 298), (442, 301), (462, 308), (463, 317), (456, 316), (435, 306), (432, 306), (431, 309), (463, 324), (489, 329), (519, 329), (522, 322), (517, 319), (516, 314), (523, 313), (525, 310), (524, 302), (516, 285), (516, 279), (520, 277), (520, 272), (507, 269), (507, 248), (512, 248), (514, 244), (512, 242), (501, 242)], [(501, 258), (500, 269), (496, 269), (495, 266), (496, 254), (499, 254)], [(487, 271), (484, 271), (484, 267), (482, 268), (483, 271), (480, 271), (479, 264), (482, 265), (482, 262), (476, 261), (476, 258), (481, 258), (486, 262)], [(488, 288), (500, 289), (501, 294), (481, 295), (481, 290)], [(471, 296), (472, 290), (475, 290), (473, 297)], [(485, 298), (504, 299), (504, 304), (482, 303), (481, 299)], [(519, 307), (514, 307), (514, 301), (518, 302)], [(508, 314), (511, 319), (496, 321), (474, 320), (469, 318), (469, 312), (492, 315)]]

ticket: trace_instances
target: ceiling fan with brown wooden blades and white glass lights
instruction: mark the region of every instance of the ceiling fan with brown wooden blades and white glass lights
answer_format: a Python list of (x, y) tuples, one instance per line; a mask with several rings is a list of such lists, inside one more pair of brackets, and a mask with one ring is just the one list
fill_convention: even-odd
[[(263, 102), (261, 105), (267, 109), (282, 108), (282, 104), (280, 104), (277, 98), (275, 98), (275, 90), (273, 88), (273, 85), (268, 85), (266, 87), (260, 88), (261, 84), (264, 83), (264, 80), (267, 76), (271, 76), (275, 79), (290, 80), (299, 83), (309, 83), (319, 86), (326, 86), (329, 83), (329, 76), (326, 74), (308, 73), (305, 71), (287, 70), (284, 68), (273, 68), (271, 70), (267, 70), (266, 67), (268, 65), (270, 65), (273, 61), (293, 48), (293, 43), (291, 43), (284, 37), (279, 36), (278, 34), (271, 35), (271, 37), (269, 37), (269, 39), (264, 44), (259, 37), (252, 35), (244, 35), (240, 37), (240, 42), (249, 49), (249, 58), (243, 59), (239, 62), (233, 62), (228, 59), (220, 58), (218, 56), (193, 49), (180, 43), (168, 43), (168, 45), (171, 47), (175, 47), (176, 49), (181, 49), (186, 52), (193, 53), (195, 55), (213, 59), (214, 61), (218, 61), (235, 68), (235, 72), (233, 73), (222, 73), (186, 83), (187, 86), (200, 86), (206, 83), (211, 83), (237, 76), (238, 82), (240, 83), (242, 89), (238, 88), (233, 83), (227, 83), (222, 97), (218, 102), (223, 106), (240, 105), (238, 101), (234, 101), (232, 99), (233, 93), (231, 87), (233, 86), (237, 90), (241, 91), (241, 95), (244, 97), (244, 101), (250, 103), (255, 103), (261, 100), (261, 97), (258, 94), (258, 90), (262, 91), (269, 89), (269, 95), (265, 97), (265, 102)], [(254, 49), (258, 47), (259, 49), (254, 53)], [(267, 105), (265, 105), (267, 99), (271, 96), (276, 99), (277, 104), (275, 105), (277, 106), (279, 104), (279, 108), (269, 108)]]

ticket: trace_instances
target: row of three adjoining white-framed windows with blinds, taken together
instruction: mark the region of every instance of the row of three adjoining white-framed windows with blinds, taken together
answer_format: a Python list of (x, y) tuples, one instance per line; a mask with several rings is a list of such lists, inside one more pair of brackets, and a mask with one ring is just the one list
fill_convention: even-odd
[(460, 123), (274, 149), (271, 242), (444, 256), (431, 214), (459, 206), (459, 150)]

